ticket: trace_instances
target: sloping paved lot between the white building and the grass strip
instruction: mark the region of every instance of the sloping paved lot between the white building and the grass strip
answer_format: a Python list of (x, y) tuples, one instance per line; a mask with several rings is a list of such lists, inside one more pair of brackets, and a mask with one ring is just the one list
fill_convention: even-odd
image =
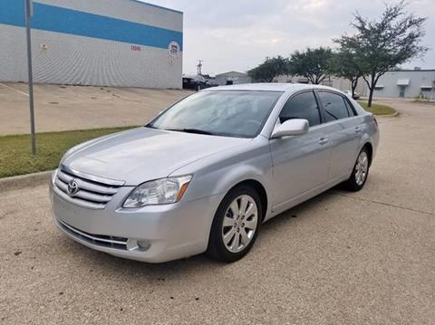
[[(29, 133), (27, 84), (0, 82), (0, 136)], [(34, 85), (36, 131), (143, 125), (191, 91)]]

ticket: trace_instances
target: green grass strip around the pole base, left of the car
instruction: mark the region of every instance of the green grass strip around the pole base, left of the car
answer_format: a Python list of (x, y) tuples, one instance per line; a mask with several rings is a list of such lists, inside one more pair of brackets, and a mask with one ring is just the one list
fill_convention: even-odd
[(0, 178), (55, 169), (69, 148), (89, 139), (131, 128), (86, 129), (36, 134), (36, 156), (29, 135), (0, 137)]

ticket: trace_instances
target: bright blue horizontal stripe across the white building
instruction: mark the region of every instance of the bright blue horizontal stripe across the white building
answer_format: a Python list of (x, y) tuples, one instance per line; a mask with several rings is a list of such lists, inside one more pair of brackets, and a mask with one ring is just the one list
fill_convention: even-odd
[[(24, 27), (24, 0), (0, 0), (0, 24)], [(32, 28), (162, 49), (172, 41), (183, 43), (181, 32), (39, 3), (34, 3)]]

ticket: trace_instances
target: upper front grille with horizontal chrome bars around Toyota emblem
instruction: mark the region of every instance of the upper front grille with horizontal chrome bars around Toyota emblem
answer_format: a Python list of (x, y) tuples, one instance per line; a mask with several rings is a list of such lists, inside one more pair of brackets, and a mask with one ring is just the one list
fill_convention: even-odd
[[(72, 181), (78, 186), (78, 191), (73, 195), (68, 191), (68, 185)], [(118, 192), (121, 184), (120, 181), (87, 176), (66, 168), (59, 168), (54, 179), (59, 196), (76, 206), (91, 209), (103, 209)]]

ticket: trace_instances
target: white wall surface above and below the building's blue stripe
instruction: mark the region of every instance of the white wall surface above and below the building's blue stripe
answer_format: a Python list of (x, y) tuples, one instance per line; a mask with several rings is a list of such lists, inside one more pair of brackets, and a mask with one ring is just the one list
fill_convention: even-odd
[[(92, 14), (182, 32), (182, 14), (131, 0), (41, 0)], [(181, 88), (182, 53), (68, 33), (33, 30), (34, 81), (118, 87)], [(0, 81), (27, 81), (25, 29), (0, 24)]]

